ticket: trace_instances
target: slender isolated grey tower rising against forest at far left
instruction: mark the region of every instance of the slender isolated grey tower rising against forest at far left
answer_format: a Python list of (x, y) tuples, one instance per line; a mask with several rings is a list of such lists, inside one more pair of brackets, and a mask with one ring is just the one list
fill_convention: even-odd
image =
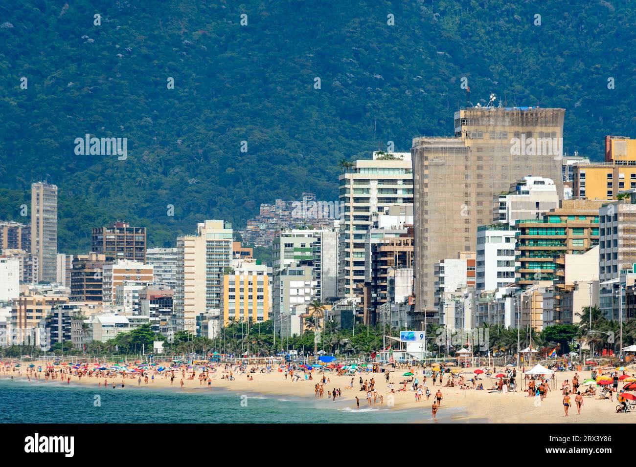
[(39, 280), (57, 278), (57, 186), (31, 184), (31, 255), (38, 257)]

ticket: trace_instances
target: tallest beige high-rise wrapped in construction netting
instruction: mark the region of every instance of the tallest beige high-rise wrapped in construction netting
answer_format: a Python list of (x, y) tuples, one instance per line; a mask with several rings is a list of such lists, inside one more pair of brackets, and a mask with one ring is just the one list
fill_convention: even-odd
[(474, 251), (492, 203), (526, 175), (555, 181), (562, 196), (565, 109), (470, 107), (455, 112), (454, 137), (413, 139), (415, 317), (436, 318), (434, 267)]

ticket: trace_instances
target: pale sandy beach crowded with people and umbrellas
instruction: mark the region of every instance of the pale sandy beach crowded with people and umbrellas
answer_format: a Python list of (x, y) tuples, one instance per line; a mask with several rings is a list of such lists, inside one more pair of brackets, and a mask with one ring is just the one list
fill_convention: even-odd
[[(47, 362), (29, 362), (23, 363), (19, 369), (3, 369), (0, 371), (0, 377), (3, 379), (13, 376), (15, 379), (26, 380), (27, 379), (27, 367), (30, 364), (46, 367)], [(58, 369), (60, 367), (57, 367)], [(21, 376), (18, 376), (18, 370)], [(434, 395), (438, 389), (441, 390), (443, 400), (439, 408), (438, 417), (441, 417), (445, 421), (455, 421), (458, 423), (470, 422), (470, 421), (488, 421), (490, 423), (636, 423), (636, 412), (630, 413), (616, 413), (616, 395), (614, 395), (613, 402), (610, 400), (598, 400), (592, 397), (584, 397), (583, 407), (581, 414), (577, 414), (576, 405), (574, 404), (574, 395), (572, 396), (572, 405), (570, 407), (569, 416), (565, 417), (563, 410), (563, 395), (561, 391), (562, 382), (567, 379), (570, 382), (574, 377), (575, 372), (556, 372), (555, 383), (551, 386), (551, 391), (542, 402), (539, 402), (537, 398), (528, 397), (527, 392), (523, 391), (523, 382), (520, 377), (522, 372), (517, 369), (518, 379), (520, 381), (520, 387), (517, 392), (494, 392), (489, 393), (488, 389), (492, 386), (493, 379), (480, 375), (481, 379), (478, 382), (483, 382), (485, 390), (475, 389), (460, 389), (455, 387), (443, 387), (439, 386), (439, 381), (436, 386), (432, 386), (432, 378), (427, 378), (426, 386), (431, 391), (431, 398), (426, 400), (426, 396), (422, 396), (420, 402), (416, 402), (415, 393), (413, 391), (399, 392), (398, 388), (401, 387), (399, 382), (403, 381), (405, 377), (403, 373), (408, 369), (396, 369), (391, 372), (389, 384), (392, 383), (392, 388), (396, 389), (396, 393), (391, 394), (391, 389), (387, 388), (387, 382), (385, 381), (384, 373), (356, 373), (354, 376), (337, 376), (335, 373), (326, 372), (325, 376), (328, 378), (328, 382), (324, 384), (324, 396), (322, 398), (315, 398), (314, 386), (321, 375), (317, 372), (313, 372), (313, 380), (305, 380), (304, 374), (301, 374), (301, 379), (298, 381), (292, 381), (291, 377), (284, 376), (284, 372), (272, 371), (272, 373), (259, 373), (251, 374), (253, 379), (248, 379), (248, 374), (237, 374), (233, 370), (235, 376), (234, 381), (228, 379), (221, 379), (222, 376), (228, 375), (229, 372), (224, 372), (223, 365), (217, 367), (216, 372), (211, 372), (212, 382), (208, 387), (207, 382), (200, 382), (198, 379), (199, 372), (197, 371), (197, 377), (195, 379), (188, 379), (189, 374), (186, 373), (186, 378), (183, 380), (184, 386), (181, 388), (181, 373), (175, 373), (174, 382), (170, 384), (170, 378), (164, 377), (162, 374), (155, 374), (154, 381), (149, 379), (148, 384), (144, 383), (143, 379), (141, 385), (138, 384), (137, 376), (126, 377), (122, 379), (120, 375), (108, 378), (109, 388), (112, 388), (113, 382), (115, 388), (111, 390), (126, 391), (137, 388), (137, 386), (149, 386), (152, 388), (171, 388), (174, 391), (189, 392), (195, 388), (204, 388), (205, 390), (212, 391), (212, 393), (219, 389), (226, 389), (234, 391), (235, 393), (258, 393), (264, 396), (291, 396), (300, 398), (312, 398), (316, 399), (320, 405), (322, 403), (327, 407), (328, 404), (333, 404), (333, 400), (328, 397), (328, 391), (333, 388), (341, 389), (342, 396), (336, 398), (336, 402), (339, 405), (343, 403), (347, 404), (352, 410), (358, 410), (356, 408), (356, 396), (360, 398), (360, 409), (367, 409), (369, 407), (366, 401), (366, 393), (360, 391), (359, 379), (370, 380), (372, 377), (375, 379), (375, 388), (378, 391), (378, 395), (382, 395), (384, 403), (380, 405), (378, 398), (376, 403), (371, 403), (373, 408), (391, 409), (391, 410), (421, 410), (422, 422), (431, 421), (431, 405), (433, 403)], [(469, 379), (472, 376), (472, 369), (462, 370), (464, 373), (461, 376)], [(191, 370), (190, 370), (191, 372)], [(417, 377), (420, 383), (423, 382), (422, 369), (413, 368), (415, 377)], [(469, 374), (469, 372), (471, 374)], [(152, 373), (149, 374), (149, 376)], [(580, 381), (583, 382), (591, 375), (590, 371), (578, 372)], [(628, 371), (628, 374), (632, 375), (633, 372)], [(349, 389), (351, 378), (354, 377), (354, 388)], [(294, 378), (295, 380), (295, 378)], [(39, 381), (34, 381), (33, 384), (50, 384), (45, 382), (44, 373), (41, 373)], [(60, 379), (55, 380), (58, 384)], [(121, 382), (125, 381), (125, 388), (121, 388)], [(445, 384), (447, 376), (445, 375)], [(78, 378), (77, 376), (71, 376), (70, 385), (81, 384), (83, 386), (99, 386), (101, 382), (102, 387), (104, 385), (104, 377), (88, 377), (83, 376)], [(64, 384), (66, 384), (66, 376), (64, 376)], [(625, 384), (619, 383), (619, 389)], [(584, 390), (585, 386), (581, 386)], [(597, 387), (597, 395), (600, 393), (600, 388)], [(452, 407), (453, 414), (450, 417), (444, 416), (446, 409)]]

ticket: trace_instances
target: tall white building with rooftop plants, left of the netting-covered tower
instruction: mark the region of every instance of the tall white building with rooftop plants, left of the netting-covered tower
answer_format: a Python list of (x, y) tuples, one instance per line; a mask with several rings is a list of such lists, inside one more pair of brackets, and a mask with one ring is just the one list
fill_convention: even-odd
[(338, 296), (353, 297), (364, 283), (364, 236), (372, 216), (391, 205), (412, 205), (411, 154), (373, 152), (372, 160), (357, 160), (342, 173), (338, 247)]

